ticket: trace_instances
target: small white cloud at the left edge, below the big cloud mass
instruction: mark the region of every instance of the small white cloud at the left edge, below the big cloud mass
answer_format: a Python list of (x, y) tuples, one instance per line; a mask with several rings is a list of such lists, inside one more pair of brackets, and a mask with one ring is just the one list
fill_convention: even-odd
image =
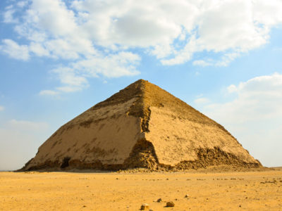
[(3, 45), (0, 46), (0, 51), (8, 54), (11, 58), (20, 60), (28, 60), (30, 58), (28, 46), (19, 45), (11, 39), (4, 39), (2, 43)]

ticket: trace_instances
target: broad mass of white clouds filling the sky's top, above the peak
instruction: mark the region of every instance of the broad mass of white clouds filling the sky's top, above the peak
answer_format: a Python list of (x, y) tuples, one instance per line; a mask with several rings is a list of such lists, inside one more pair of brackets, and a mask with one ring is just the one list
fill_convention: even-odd
[[(192, 61), (226, 66), (269, 41), (271, 27), (282, 23), (281, 10), (278, 0), (20, 1), (6, 8), (4, 20), (15, 25), (25, 42), (4, 39), (9, 41), (0, 51), (22, 60), (30, 56), (63, 60), (66, 75), (68, 68), (75, 68), (75, 77), (85, 79), (137, 74), (141, 57), (135, 52), (155, 56), (162, 65)], [(23, 14), (19, 23), (12, 21), (16, 11)], [(11, 53), (8, 46), (19, 50)], [(206, 58), (193, 60), (202, 52)], [(58, 77), (61, 80), (61, 73)]]

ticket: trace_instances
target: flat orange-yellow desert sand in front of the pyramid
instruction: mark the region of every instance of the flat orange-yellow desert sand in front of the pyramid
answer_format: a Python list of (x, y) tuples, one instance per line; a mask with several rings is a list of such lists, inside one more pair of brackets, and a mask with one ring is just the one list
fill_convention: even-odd
[[(185, 195), (188, 194), (188, 198)], [(158, 198), (162, 199), (157, 203)], [(172, 200), (175, 207), (165, 207)], [(282, 170), (0, 172), (0, 210), (282, 210)]]

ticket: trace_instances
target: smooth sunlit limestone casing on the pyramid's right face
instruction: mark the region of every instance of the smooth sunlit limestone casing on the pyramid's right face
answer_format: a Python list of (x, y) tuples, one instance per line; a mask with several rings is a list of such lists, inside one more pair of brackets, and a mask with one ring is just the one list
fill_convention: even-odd
[(183, 160), (197, 160), (198, 148), (219, 147), (244, 162), (257, 162), (233, 136), (212, 124), (202, 124), (179, 117), (169, 108), (150, 107), (147, 141), (154, 145), (159, 163), (176, 165)]

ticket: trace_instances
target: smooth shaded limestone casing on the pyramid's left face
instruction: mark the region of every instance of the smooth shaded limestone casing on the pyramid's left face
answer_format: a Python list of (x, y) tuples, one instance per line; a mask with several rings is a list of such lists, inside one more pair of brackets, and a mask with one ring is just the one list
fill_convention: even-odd
[(66, 157), (123, 164), (140, 139), (140, 118), (127, 114), (133, 101), (82, 113), (45, 141), (27, 168)]

